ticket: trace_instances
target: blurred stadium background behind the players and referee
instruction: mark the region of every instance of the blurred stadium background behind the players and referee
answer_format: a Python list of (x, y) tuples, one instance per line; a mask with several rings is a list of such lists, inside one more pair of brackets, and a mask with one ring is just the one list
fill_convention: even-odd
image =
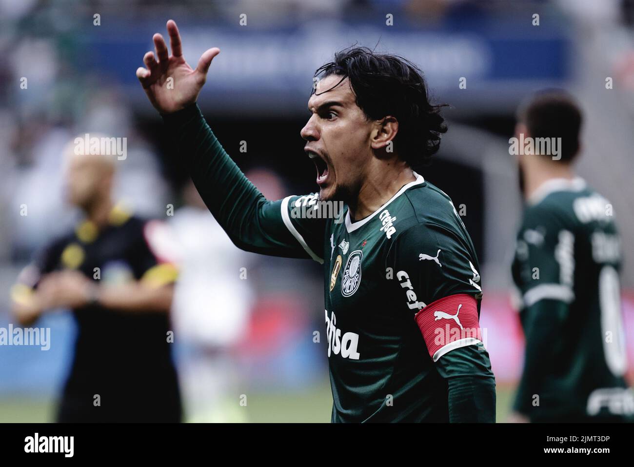
[[(247, 25), (240, 25), (242, 13)], [(95, 14), (100, 25), (93, 24)], [(190, 63), (211, 46), (221, 48), (198, 103), (238, 166), (273, 197), (315, 188), (299, 131), (313, 71), (334, 51), (359, 43), (420, 65), (436, 100), (451, 105), (450, 131), (423, 174), (456, 207), (466, 207), (463, 220), (482, 265), (481, 324), (488, 330), (499, 420), (508, 412), (523, 346), (508, 299), (521, 208), (508, 138), (515, 109), (531, 91), (572, 91), (586, 118), (578, 171), (612, 201), (623, 237), (631, 376), (634, 2), (3, 0), (0, 18), (0, 326), (12, 321), (9, 293), (20, 268), (77, 217), (63, 203), (61, 183), (61, 149), (75, 135), (127, 138), (117, 197), (136, 213), (166, 219), (167, 204), (183, 205), (186, 174), (134, 76), (153, 49), (152, 34), (165, 34), (165, 21), (173, 18)], [(22, 77), (27, 89), (20, 88)], [(466, 89), (458, 86), (461, 77)], [(607, 77), (613, 89), (606, 89)], [(20, 215), (23, 204), (27, 216)], [(240, 373), (236, 407), (240, 394), (249, 397), (242, 419), (328, 421), (325, 339), (313, 342), (314, 331), (325, 331), (319, 266), (250, 255), (226, 273), (240, 267), (247, 268), (253, 297), (249, 324), (225, 351)], [(0, 421), (52, 417), (74, 326), (63, 311), (37, 326), (51, 327), (47, 352), (0, 347)], [(174, 345), (179, 355), (183, 343), (177, 338)]]

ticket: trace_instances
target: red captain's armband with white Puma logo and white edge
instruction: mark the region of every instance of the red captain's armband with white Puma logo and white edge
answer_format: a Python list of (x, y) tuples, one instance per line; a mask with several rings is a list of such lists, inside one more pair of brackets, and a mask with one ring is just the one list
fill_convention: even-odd
[(455, 348), (482, 341), (477, 301), (468, 294), (450, 295), (414, 315), (434, 362)]

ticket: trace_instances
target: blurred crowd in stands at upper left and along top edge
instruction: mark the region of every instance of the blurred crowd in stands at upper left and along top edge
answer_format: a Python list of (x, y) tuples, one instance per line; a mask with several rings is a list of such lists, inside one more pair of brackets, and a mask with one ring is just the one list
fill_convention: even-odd
[[(517, 2), (552, 3), (562, 11), (588, 23), (633, 24), (632, 0), (553, 0)], [(164, 20), (164, 11), (204, 18), (230, 18), (236, 12), (266, 13), (280, 22), (309, 20), (321, 15), (354, 16), (384, 13), (390, 8), (406, 11), (408, 17), (425, 21), (473, 10), (500, 14), (514, 8), (500, 0), (275, 0), (259, 2), (190, 0), (175, 7), (169, 1), (3, 0), (0, 2), (0, 213), (7, 220), (0, 227), (0, 258), (24, 261), (46, 239), (72, 221), (61, 202), (61, 165), (58, 154), (71, 136), (100, 131), (127, 135), (134, 141), (133, 157), (126, 161), (117, 194), (134, 200), (135, 209), (148, 216), (160, 216), (175, 180), (161, 166), (163, 159), (156, 138), (139, 128), (134, 109), (116, 81), (103, 79), (86, 67), (82, 56), (86, 44), (75, 32), (90, 24), (93, 13), (104, 20), (152, 22)], [(303, 16), (302, 16), (303, 15)], [(158, 21), (158, 20), (157, 20)], [(159, 23), (160, 23), (159, 22)], [(269, 22), (275, 27), (275, 22)], [(624, 39), (625, 40), (625, 39)], [(618, 44), (615, 44), (618, 49)], [(623, 53), (614, 67), (623, 81), (634, 88), (634, 53)], [(182, 180), (177, 181), (182, 183)], [(152, 197), (148, 197), (148, 193)], [(27, 204), (29, 220), (16, 221), (15, 206)]]

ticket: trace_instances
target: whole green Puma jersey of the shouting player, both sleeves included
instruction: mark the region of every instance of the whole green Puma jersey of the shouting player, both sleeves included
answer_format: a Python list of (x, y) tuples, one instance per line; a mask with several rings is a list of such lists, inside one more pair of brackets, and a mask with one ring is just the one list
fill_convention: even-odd
[(479, 266), (441, 190), (415, 175), (356, 222), (316, 194), (268, 201), (198, 107), (164, 120), (236, 246), (323, 265), (332, 421), (495, 421)]

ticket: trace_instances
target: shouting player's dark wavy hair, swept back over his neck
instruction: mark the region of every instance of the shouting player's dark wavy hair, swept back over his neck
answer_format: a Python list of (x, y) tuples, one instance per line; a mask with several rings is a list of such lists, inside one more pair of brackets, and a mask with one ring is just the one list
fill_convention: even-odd
[(319, 67), (314, 77), (330, 75), (341, 76), (341, 81), (349, 79), (356, 105), (368, 121), (386, 115), (398, 120), (394, 149), (411, 168), (429, 164), (440, 147), (441, 135), (447, 131), (440, 114), (446, 104), (429, 102), (423, 72), (414, 63), (398, 55), (352, 46), (335, 53), (335, 60)]

